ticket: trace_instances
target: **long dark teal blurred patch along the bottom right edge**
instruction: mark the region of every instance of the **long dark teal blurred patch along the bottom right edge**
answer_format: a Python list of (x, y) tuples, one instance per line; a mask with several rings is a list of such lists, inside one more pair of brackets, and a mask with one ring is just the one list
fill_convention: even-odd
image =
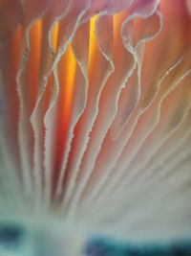
[(86, 256), (191, 256), (191, 239), (171, 244), (123, 244), (95, 238), (84, 248)]

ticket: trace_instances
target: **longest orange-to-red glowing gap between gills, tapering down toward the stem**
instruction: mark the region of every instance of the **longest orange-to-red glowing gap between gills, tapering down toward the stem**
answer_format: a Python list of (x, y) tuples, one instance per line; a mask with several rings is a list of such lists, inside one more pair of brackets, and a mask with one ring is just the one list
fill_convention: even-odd
[[(56, 170), (59, 170), (61, 159), (66, 147), (68, 131), (71, 122), (71, 113), (74, 98), (74, 78), (75, 78), (76, 61), (74, 59), (71, 45), (67, 47), (66, 52), (60, 58), (58, 64), (59, 74), (59, 98), (57, 102), (57, 121), (56, 121), (56, 140), (55, 140), (55, 158), (56, 166), (54, 174), (56, 180)], [(54, 183), (53, 181), (53, 183)]]

